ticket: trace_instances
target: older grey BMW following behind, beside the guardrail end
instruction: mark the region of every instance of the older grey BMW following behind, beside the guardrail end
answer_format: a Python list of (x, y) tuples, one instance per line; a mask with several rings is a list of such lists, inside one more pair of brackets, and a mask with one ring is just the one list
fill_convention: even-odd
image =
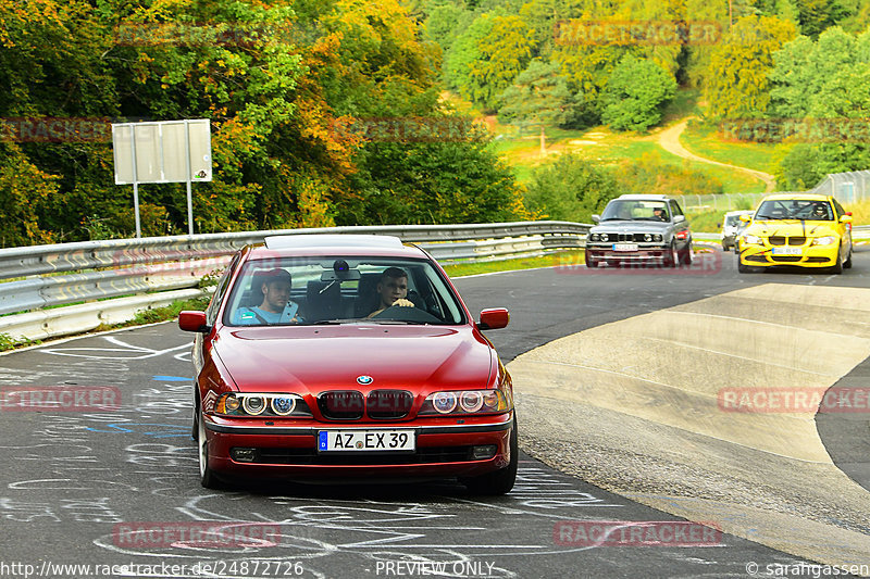
[(692, 263), (692, 230), (683, 210), (666, 196), (625, 194), (610, 201), (586, 236), (586, 266), (599, 263)]

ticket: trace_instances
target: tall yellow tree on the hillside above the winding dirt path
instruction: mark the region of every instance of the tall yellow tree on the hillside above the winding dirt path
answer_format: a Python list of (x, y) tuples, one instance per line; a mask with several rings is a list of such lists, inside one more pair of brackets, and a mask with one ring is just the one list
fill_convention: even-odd
[(770, 101), (773, 53), (795, 37), (795, 26), (773, 16), (739, 18), (710, 58), (705, 97), (713, 118), (753, 118)]

